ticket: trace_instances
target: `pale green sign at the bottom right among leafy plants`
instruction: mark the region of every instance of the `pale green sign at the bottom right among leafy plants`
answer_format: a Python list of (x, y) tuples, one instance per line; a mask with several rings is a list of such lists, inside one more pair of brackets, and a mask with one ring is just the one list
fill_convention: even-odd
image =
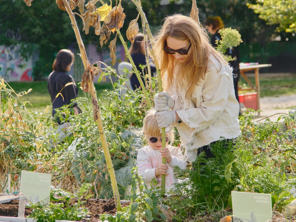
[(271, 195), (231, 191), (234, 222), (264, 222), (272, 217)]

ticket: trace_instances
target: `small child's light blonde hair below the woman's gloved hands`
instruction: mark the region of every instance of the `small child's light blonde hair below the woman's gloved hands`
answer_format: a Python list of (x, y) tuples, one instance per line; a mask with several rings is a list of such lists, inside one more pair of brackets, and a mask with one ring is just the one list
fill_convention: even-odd
[[(146, 133), (147, 135), (151, 136), (151, 137), (161, 137), (161, 129), (158, 126), (157, 123), (157, 119), (154, 116), (155, 114), (155, 109), (151, 108), (149, 110), (147, 110), (146, 112), (146, 116), (143, 120), (143, 127), (138, 131), (139, 133), (142, 133), (143, 135)], [(166, 133), (169, 138), (170, 138), (170, 142), (169, 144), (173, 144), (174, 140), (175, 140), (175, 133), (172, 130), (169, 133)]]

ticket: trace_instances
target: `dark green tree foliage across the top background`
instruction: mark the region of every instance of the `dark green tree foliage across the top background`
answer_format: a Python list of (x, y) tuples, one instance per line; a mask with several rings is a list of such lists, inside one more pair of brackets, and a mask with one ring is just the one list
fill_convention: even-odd
[[(29, 55), (34, 48), (40, 51), (39, 61), (36, 62), (33, 69), (34, 79), (46, 76), (51, 72), (55, 54), (60, 49), (68, 48), (70, 44), (77, 44), (69, 16), (66, 12), (58, 9), (54, 0), (36, 0), (33, 1), (31, 7), (26, 6), (22, 0), (0, 0), (0, 3), (0, 44), (20, 44), (22, 55)], [(239, 31), (244, 41), (243, 44), (264, 43), (273, 37), (278, 25), (274, 24), (276, 22), (266, 24), (266, 21), (260, 19), (252, 8), (248, 8), (247, 3), (256, 4), (256, 1), (197, 1), (200, 22), (204, 22), (207, 16), (220, 16), (226, 27)], [(112, 6), (115, 4), (116, 1), (112, 1)], [(121, 33), (125, 35), (129, 22), (136, 18), (138, 12), (132, 1), (123, 0), (121, 4), (124, 8), (123, 12), (126, 14)], [(152, 32), (156, 32), (166, 15), (180, 13), (189, 16), (192, 0), (142, 0), (141, 4)], [(78, 12), (78, 9), (76, 10)], [(82, 31), (82, 20), (77, 16), (76, 21), (81, 28), (84, 44), (92, 43), (97, 45), (98, 51), (102, 50), (99, 36), (94, 34), (94, 28), (90, 28), (89, 34), (85, 35)], [(140, 21), (138, 20), (141, 29)], [(281, 35), (282, 39), (288, 36), (291, 41), (296, 39), (293, 33), (285, 31), (280, 31), (276, 35)], [(111, 39), (113, 38), (111, 37)], [(106, 45), (103, 47), (107, 48)]]

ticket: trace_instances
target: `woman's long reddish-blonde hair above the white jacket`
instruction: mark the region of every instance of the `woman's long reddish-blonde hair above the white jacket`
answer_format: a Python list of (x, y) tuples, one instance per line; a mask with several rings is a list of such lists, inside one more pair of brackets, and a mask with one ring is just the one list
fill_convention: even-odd
[[(192, 51), (186, 60), (181, 63), (172, 54), (163, 51), (166, 39), (168, 37), (179, 40), (187, 40), (191, 43)], [(202, 28), (194, 19), (184, 15), (172, 15), (165, 18), (165, 22), (160, 31), (154, 38), (152, 48), (158, 63), (160, 64), (160, 74), (164, 81), (164, 90), (171, 89), (174, 81), (173, 73), (178, 63), (179, 69), (176, 70), (175, 79), (185, 79), (186, 99), (192, 97), (194, 88), (205, 77), (210, 55), (213, 55), (218, 61), (227, 64), (219, 52), (210, 44), (209, 37), (205, 28)], [(222, 67), (222, 65), (221, 65)], [(165, 77), (166, 75), (166, 77)], [(179, 81), (180, 84), (183, 81)]]

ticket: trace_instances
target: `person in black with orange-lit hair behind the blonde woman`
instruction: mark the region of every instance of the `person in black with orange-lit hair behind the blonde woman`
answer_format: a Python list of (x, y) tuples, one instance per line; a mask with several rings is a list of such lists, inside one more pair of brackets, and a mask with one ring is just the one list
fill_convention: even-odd
[[(212, 34), (211, 44), (214, 48), (217, 47), (216, 40), (221, 40), (221, 35), (218, 33), (219, 29), (224, 28), (224, 23), (219, 16), (211, 17), (209, 16), (205, 21), (205, 28), (208, 32)], [(238, 82), (239, 82), (239, 48), (230, 47), (225, 52), (226, 55), (230, 55), (234, 60), (229, 61), (229, 65), (233, 68), (233, 83), (234, 83), (234, 93), (237, 101), (239, 102), (238, 95)]]

